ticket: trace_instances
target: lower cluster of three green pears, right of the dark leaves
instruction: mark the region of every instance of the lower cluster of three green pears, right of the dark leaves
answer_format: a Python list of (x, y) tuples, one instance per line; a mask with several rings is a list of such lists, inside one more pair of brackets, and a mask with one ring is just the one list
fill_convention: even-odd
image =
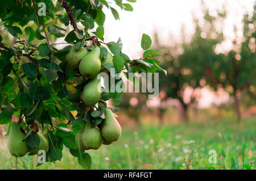
[(92, 127), (90, 121), (87, 121), (85, 126), (77, 132), (75, 137), (77, 148), (97, 150), (102, 144), (110, 145), (118, 140), (122, 133), (121, 126), (109, 108), (106, 108), (105, 116), (101, 129)]

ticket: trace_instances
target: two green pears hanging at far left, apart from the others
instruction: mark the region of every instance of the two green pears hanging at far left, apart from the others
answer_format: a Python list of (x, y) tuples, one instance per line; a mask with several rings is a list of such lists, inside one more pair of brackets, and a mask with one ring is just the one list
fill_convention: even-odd
[(39, 150), (44, 150), (46, 153), (49, 150), (49, 142), (46, 137), (43, 136), (41, 133), (36, 133), (39, 136), (40, 143), (36, 148), (30, 148), (27, 146), (26, 142), (24, 141), (25, 134), (20, 131), (19, 124), (14, 122), (11, 124), (9, 139), (7, 142), (8, 149), (11, 155), (15, 157), (23, 157), (28, 152), (32, 152), (34, 154), (38, 154)]

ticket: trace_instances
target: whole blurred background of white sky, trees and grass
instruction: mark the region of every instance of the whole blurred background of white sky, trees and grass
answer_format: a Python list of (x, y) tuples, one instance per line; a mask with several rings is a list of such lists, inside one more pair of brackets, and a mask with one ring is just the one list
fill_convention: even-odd
[[(89, 151), (92, 169), (255, 169), (255, 1), (138, 0), (133, 7), (120, 21), (104, 9), (105, 41), (121, 37), (123, 52), (139, 58), (147, 33), (167, 76), (159, 72), (156, 99), (122, 95), (122, 137)], [(81, 169), (68, 150), (55, 164), (16, 160), (5, 140), (0, 169)]]

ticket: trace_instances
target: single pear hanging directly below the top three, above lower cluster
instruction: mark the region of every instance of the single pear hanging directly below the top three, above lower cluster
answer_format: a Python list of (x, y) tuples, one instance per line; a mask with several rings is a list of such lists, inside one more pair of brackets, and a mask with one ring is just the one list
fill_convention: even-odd
[(90, 82), (86, 83), (82, 91), (82, 102), (86, 106), (94, 106), (101, 99), (101, 80), (93, 78)]

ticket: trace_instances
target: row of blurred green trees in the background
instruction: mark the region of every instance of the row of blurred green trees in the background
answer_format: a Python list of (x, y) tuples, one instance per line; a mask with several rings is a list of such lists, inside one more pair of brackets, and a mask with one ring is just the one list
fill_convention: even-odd
[[(256, 6), (256, 5), (255, 5)], [(163, 113), (167, 110), (161, 106), (167, 99), (179, 100), (181, 117), (188, 121), (188, 108), (197, 107), (200, 98), (200, 89), (208, 86), (214, 91), (224, 89), (234, 100), (237, 119), (241, 119), (239, 100), (243, 95), (250, 102), (256, 100), (256, 56), (255, 56), (255, 6), (254, 12), (243, 17), (243, 36), (233, 40), (233, 47), (228, 52), (222, 49), (222, 43), (226, 41), (223, 34), (225, 26), (226, 10), (216, 10), (216, 15), (210, 15), (209, 9), (202, 4), (203, 19), (194, 17), (195, 33), (187, 37), (182, 32), (182, 39), (176, 42), (170, 39), (169, 45), (163, 45), (155, 34), (154, 49), (160, 56), (163, 69), (168, 71), (167, 77), (159, 74), (160, 106), (158, 116), (160, 122)], [(237, 35), (237, 29), (234, 28)], [(186, 90), (189, 91), (186, 92)], [(162, 94), (161, 94), (162, 93)], [(243, 94), (242, 94), (243, 93)], [(133, 95), (139, 99), (140, 95)], [(121, 104), (129, 109), (130, 95)], [(142, 107), (144, 102), (136, 105)], [(248, 106), (251, 104), (247, 104)], [(135, 106), (135, 107), (136, 107)], [(135, 108), (133, 110), (138, 110)], [(131, 107), (130, 107), (131, 108)], [(130, 110), (131, 111), (131, 110)], [(130, 114), (129, 115), (133, 115)]]

